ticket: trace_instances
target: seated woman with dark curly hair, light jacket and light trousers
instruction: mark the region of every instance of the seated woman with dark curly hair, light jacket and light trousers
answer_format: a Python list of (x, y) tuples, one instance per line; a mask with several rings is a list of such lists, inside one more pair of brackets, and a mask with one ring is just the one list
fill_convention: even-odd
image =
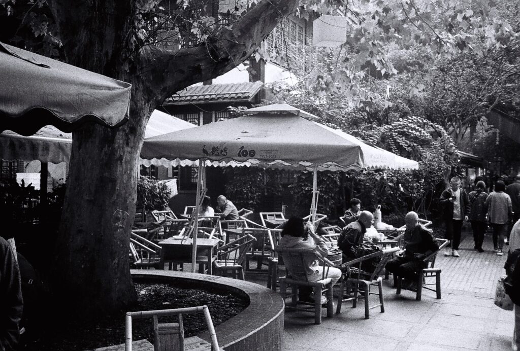
[[(310, 222), (305, 224), (305, 221), (299, 217), (290, 218), (285, 223), (282, 231), (282, 238), (278, 244), (280, 249), (311, 249), (316, 250), (322, 256), (326, 257), (329, 250), (325, 244), (325, 240), (314, 233), (314, 226)], [(282, 254), (283, 257), (283, 254)], [(304, 261), (307, 271), (307, 279), (309, 281), (320, 280), (323, 274), (323, 266), (319, 265), (317, 255), (305, 255)], [(289, 261), (285, 261), (287, 264)], [(290, 269), (290, 267), (288, 267)], [(341, 278), (341, 271), (339, 268), (330, 267), (327, 277), (332, 278), (332, 285)], [(310, 287), (300, 287), (299, 298), (300, 301), (313, 302), (310, 294), (313, 291)]]

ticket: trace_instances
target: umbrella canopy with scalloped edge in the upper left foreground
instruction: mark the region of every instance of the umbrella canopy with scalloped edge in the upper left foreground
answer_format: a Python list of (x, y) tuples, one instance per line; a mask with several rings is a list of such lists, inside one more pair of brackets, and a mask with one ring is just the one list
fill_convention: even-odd
[(128, 120), (131, 84), (0, 43), (0, 132), (29, 136), (46, 125), (71, 132), (87, 121)]

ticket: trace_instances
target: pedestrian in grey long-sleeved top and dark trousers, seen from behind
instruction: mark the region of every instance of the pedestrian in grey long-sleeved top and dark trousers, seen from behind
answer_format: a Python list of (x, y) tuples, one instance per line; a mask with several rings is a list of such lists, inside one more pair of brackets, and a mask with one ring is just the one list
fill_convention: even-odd
[(504, 246), (504, 236), (508, 230), (508, 221), (512, 217), (511, 198), (504, 193), (505, 183), (498, 180), (495, 183), (495, 191), (486, 199), (489, 223), (493, 228), (493, 247), (497, 255), (501, 256)]

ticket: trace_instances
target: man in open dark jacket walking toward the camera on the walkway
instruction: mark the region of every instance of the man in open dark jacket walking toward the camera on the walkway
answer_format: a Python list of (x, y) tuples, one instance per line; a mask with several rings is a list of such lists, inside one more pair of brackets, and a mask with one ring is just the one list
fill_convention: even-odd
[(444, 206), (444, 220), (446, 223), (446, 239), (450, 240), (451, 250), (444, 252), (445, 256), (460, 257), (459, 244), (463, 221), (467, 221), (470, 213), (470, 199), (460, 187), (459, 177), (450, 180), (450, 187), (440, 194), (440, 204)]

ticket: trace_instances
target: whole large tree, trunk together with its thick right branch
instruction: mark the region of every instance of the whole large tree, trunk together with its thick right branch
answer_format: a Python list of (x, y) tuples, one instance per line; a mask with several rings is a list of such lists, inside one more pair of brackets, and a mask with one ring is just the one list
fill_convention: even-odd
[(133, 85), (129, 122), (118, 129), (89, 124), (73, 133), (55, 288), (85, 315), (121, 310), (136, 300), (128, 245), (137, 161), (151, 112), (174, 92), (247, 59), (298, 1), (264, 0), (232, 30), (175, 53), (137, 44), (137, 8), (146, 10), (154, 3), (50, 0), (68, 62)]

